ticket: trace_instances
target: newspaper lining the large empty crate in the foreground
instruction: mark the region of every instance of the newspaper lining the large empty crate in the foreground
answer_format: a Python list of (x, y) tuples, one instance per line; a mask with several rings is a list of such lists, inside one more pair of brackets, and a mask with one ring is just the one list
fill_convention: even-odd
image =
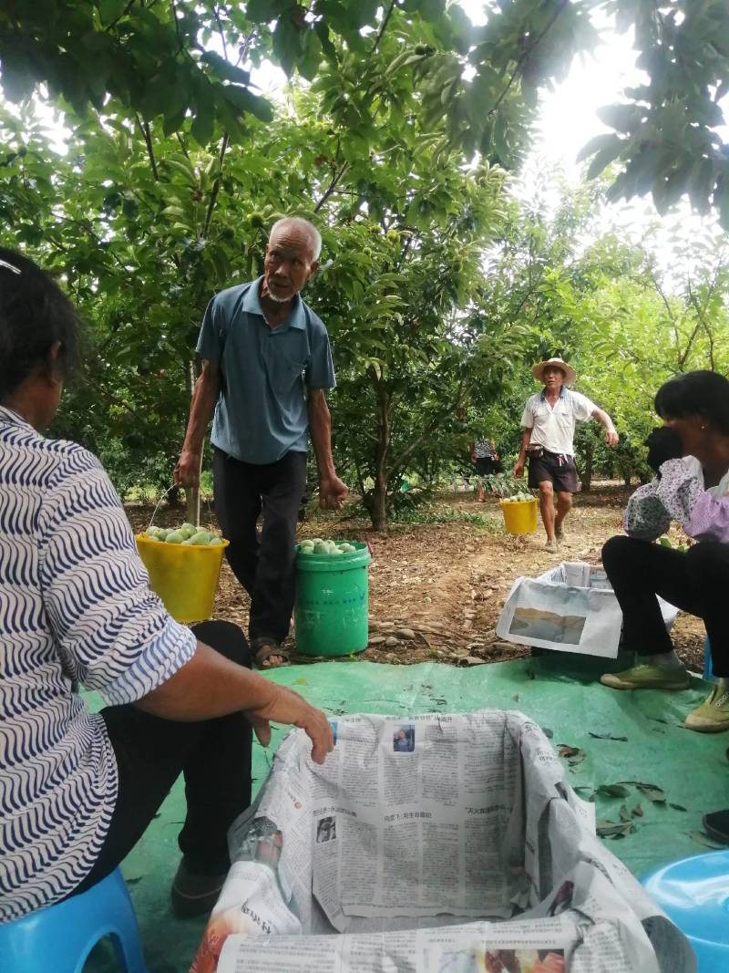
[(594, 807), (522, 713), (295, 731), (192, 973), (689, 973), (687, 941), (595, 837)]

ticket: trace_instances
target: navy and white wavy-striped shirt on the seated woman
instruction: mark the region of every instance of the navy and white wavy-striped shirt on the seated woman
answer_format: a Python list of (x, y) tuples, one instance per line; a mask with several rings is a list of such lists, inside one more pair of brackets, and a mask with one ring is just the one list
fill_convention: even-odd
[(109, 828), (114, 751), (75, 685), (133, 703), (194, 649), (96, 457), (0, 407), (0, 922), (72, 891)]

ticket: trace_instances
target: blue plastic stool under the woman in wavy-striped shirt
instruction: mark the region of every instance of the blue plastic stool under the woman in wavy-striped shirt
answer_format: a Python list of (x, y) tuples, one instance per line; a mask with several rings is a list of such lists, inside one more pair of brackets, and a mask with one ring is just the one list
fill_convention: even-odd
[(125, 973), (147, 973), (137, 919), (119, 869), (80, 895), (0, 925), (0, 970), (81, 973), (104, 936), (112, 937)]

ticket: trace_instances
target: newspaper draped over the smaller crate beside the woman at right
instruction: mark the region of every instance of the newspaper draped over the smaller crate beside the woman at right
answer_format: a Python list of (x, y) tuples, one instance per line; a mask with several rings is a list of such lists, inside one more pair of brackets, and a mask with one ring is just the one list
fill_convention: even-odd
[[(658, 599), (667, 628), (677, 608)], [(500, 638), (542, 649), (617, 658), (623, 616), (602, 567), (563, 561), (538, 578), (517, 578), (503, 605)]]

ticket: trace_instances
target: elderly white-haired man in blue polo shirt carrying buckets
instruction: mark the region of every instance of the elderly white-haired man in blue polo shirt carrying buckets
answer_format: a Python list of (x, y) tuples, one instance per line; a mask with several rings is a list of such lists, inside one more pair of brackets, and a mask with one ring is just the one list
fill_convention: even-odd
[(281, 642), (294, 607), (296, 515), (309, 435), (321, 506), (335, 509), (348, 493), (331, 456), (329, 336), (298, 294), (319, 266), (321, 246), (307, 220), (279, 220), (268, 237), (263, 276), (222, 291), (208, 305), (196, 349), (202, 373), (175, 467), (175, 483), (197, 486), (214, 414), (216, 513), (230, 541), (230, 567), (251, 596), (249, 638), (262, 668), (289, 663)]

